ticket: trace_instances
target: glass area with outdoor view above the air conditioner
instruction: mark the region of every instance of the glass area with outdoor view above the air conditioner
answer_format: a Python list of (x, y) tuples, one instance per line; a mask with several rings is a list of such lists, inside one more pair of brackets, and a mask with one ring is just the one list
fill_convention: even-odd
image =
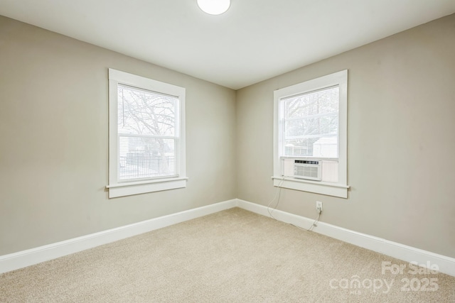
[(338, 158), (339, 87), (282, 99), (284, 156)]

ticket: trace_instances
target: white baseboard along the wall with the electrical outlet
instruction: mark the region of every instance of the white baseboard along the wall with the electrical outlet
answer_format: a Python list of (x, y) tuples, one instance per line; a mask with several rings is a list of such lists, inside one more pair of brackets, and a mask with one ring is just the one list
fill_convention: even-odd
[[(255, 212), (256, 214), (262, 214), (263, 216), (269, 216), (267, 206), (243, 201), (237, 199), (237, 206), (247, 211)], [(295, 214), (289, 214), (285, 211), (273, 210), (272, 216), (279, 221), (283, 221), (289, 224), (294, 224), (301, 228), (310, 228), (314, 222), (314, 219), (309, 219), (304, 216), (297, 216)], [(437, 265), (439, 272), (444, 272), (447, 275), (455, 276), (455, 258), (446, 257), (445, 255), (439, 255), (432, 253), (427, 250), (414, 248), (411, 246), (405, 246), (400, 243), (388, 241), (375, 236), (370, 236), (365, 233), (358, 233), (357, 231), (350, 231), (349, 229), (334, 226), (331, 224), (319, 222), (317, 226), (313, 228), (316, 233), (321, 233), (331, 238), (351, 243), (355, 246), (367, 248), (369, 250), (389, 255), (390, 257), (404, 260), (407, 263), (417, 262), (419, 265), (428, 267), (427, 265)]]

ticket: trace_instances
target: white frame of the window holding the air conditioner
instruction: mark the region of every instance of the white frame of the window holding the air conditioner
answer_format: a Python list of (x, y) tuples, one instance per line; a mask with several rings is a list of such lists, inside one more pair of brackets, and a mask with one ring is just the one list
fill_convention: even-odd
[[(339, 116), (338, 116), (338, 182), (321, 182), (284, 177), (282, 150), (282, 110), (281, 100), (298, 94), (314, 92), (338, 85)], [(274, 91), (274, 186), (296, 189), (334, 197), (348, 197), (348, 70), (335, 72), (306, 82), (294, 84)]]

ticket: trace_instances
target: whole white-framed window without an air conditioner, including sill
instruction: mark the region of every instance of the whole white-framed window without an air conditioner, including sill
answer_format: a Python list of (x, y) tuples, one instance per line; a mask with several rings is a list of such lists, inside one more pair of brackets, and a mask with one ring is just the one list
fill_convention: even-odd
[(109, 69), (109, 198), (186, 179), (185, 89)]

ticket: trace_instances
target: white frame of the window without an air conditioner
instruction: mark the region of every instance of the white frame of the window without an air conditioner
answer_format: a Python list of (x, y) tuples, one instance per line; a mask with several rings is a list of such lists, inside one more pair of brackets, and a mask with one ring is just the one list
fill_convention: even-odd
[[(178, 176), (153, 178), (140, 181), (119, 181), (117, 169), (119, 165), (118, 140), (118, 90), (119, 84), (145, 89), (159, 94), (167, 94), (178, 98), (178, 114), (176, 119), (178, 130)], [(146, 77), (132, 75), (127, 72), (109, 68), (109, 198), (124, 197), (132, 194), (158, 192), (167, 189), (186, 187), (186, 142), (185, 142), (185, 93), (186, 89), (173, 84), (159, 82)]]

